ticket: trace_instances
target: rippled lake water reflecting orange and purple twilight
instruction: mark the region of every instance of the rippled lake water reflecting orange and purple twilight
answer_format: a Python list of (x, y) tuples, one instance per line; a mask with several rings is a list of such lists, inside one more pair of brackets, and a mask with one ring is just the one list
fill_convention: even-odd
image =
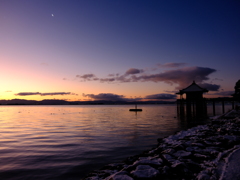
[(196, 125), (178, 119), (176, 105), (129, 108), (0, 106), (0, 179), (81, 179)]

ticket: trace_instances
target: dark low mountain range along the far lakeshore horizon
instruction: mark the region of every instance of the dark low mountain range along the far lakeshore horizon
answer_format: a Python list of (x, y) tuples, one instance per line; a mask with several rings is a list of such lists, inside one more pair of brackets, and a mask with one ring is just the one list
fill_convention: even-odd
[(97, 105), (97, 104), (174, 104), (175, 101), (65, 101), (59, 99), (45, 99), (42, 101), (25, 100), (25, 99), (11, 99), (0, 100), (0, 105)]

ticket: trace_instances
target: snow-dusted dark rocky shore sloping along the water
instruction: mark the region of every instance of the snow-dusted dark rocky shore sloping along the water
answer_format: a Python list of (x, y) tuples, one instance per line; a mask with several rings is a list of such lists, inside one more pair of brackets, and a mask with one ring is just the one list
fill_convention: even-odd
[(228, 167), (234, 161), (230, 162), (230, 157), (240, 149), (240, 111), (232, 110), (207, 125), (158, 142), (157, 148), (109, 164), (84, 180), (228, 179), (227, 174), (231, 174), (227, 172), (231, 171)]

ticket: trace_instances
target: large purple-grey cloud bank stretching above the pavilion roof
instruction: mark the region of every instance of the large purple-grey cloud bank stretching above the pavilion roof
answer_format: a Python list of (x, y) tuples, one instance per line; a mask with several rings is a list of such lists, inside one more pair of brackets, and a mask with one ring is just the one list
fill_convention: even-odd
[[(185, 63), (167, 63), (165, 67), (179, 67)], [(184, 67), (175, 70), (167, 70), (161, 73), (146, 74), (141, 69), (130, 68), (125, 74), (111, 74), (110, 78), (97, 78), (94, 74), (77, 75), (81, 81), (99, 81), (101, 83), (127, 83), (127, 82), (165, 82), (171, 85), (177, 85), (177, 89), (185, 88), (190, 85), (193, 80), (198, 84), (202, 84), (204, 88), (210, 91), (218, 91), (220, 85), (209, 84), (205, 81), (209, 80), (209, 75), (216, 72), (216, 69), (208, 67)]]

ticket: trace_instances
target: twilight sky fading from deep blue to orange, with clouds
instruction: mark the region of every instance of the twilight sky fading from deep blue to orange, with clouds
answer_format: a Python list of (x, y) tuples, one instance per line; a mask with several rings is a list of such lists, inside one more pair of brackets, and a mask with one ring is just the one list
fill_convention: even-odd
[(0, 99), (206, 97), (240, 79), (237, 0), (0, 0)]

